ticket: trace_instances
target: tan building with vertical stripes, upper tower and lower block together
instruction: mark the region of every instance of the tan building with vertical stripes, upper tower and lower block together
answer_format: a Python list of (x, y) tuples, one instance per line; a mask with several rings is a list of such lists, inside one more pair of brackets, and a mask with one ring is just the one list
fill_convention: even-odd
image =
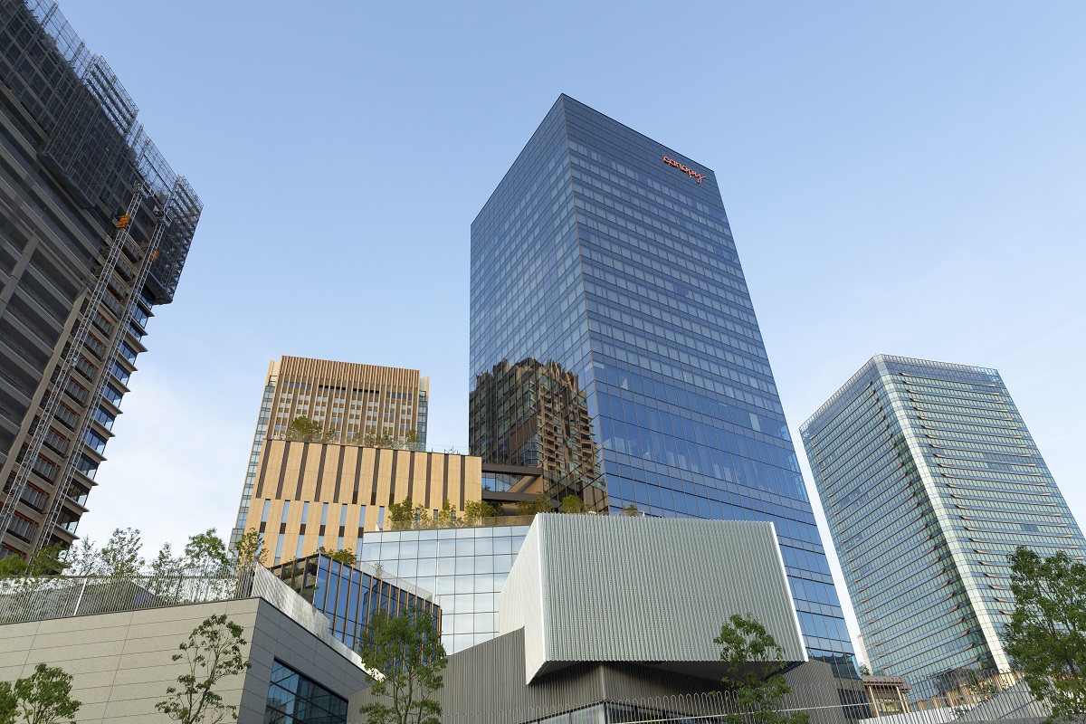
[[(473, 466), (456, 455), (445, 456), (457, 458), (452, 462), (442, 455), (431, 461), (421, 452), (429, 396), (430, 378), (414, 369), (287, 355), (269, 363), (231, 544), (245, 530), (260, 529), (274, 552), (278, 531), (286, 524), (281, 533), (288, 557), (312, 554), (320, 545), (354, 548), (358, 532), (367, 525), (377, 530), (383, 507), (402, 500), (409, 494), (405, 491), (417, 490), (413, 495), (417, 503), (429, 505), (432, 498), (434, 508), (449, 497), (463, 510), (460, 481), (470, 480), (475, 492), (470, 499), (478, 500), (478, 458)], [(291, 421), (299, 417), (308, 418), (316, 428), (307, 440), (319, 442), (287, 440)], [(366, 435), (406, 441), (411, 432), (414, 442), (403, 444), (411, 449), (384, 449), (378, 455), (372, 447), (358, 446)], [(440, 490), (429, 487), (430, 475)], [(453, 487), (446, 488), (450, 480)], [(254, 501), (254, 495), (263, 500)], [(253, 516), (251, 505), (257, 506)], [(363, 507), (371, 509), (365, 517)], [(316, 516), (306, 518), (304, 525), (303, 509)], [(273, 528), (261, 520), (267, 516), (273, 516)], [(296, 520), (292, 522), (291, 516)], [(321, 528), (329, 532), (318, 533)], [(300, 534), (306, 541), (301, 547)]]

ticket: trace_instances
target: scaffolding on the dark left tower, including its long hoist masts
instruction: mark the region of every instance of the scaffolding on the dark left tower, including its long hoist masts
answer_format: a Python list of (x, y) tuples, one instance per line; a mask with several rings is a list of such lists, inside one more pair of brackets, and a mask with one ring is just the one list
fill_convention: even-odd
[[(119, 271), (129, 280), (135, 277), (131, 296), (143, 293), (154, 304), (171, 302), (203, 204), (137, 122), (139, 109), (109, 64), (87, 50), (55, 2), (0, 0), (0, 81), (36, 124), (30, 130), (40, 140), (41, 163), (76, 204), (100, 221), (103, 231), (110, 229), (101, 240), (99, 264), (87, 280), (79, 319), (51, 376), (52, 389), (41, 401), (36, 423), (18, 457), (21, 465), (5, 486), (0, 507), (2, 545), (48, 434), (49, 421), (60, 408), (65, 383), (88, 341), (90, 325), (100, 306), (109, 304), (106, 288), (114, 274)], [(148, 219), (141, 233), (136, 233), (137, 218)], [(130, 269), (125, 274), (128, 266), (121, 261), (122, 251), (134, 261), (139, 258), (138, 274), (132, 275)], [(135, 304), (134, 299), (128, 299), (117, 315), (121, 330), (127, 328)], [(106, 359), (117, 354), (122, 339), (123, 334), (115, 335)], [(83, 440), (90, 428), (90, 409), (104, 384), (105, 368), (100, 368), (76, 425), (75, 449), (53, 481), (51, 500), (34, 536), (31, 554), (49, 544), (59, 524)]]

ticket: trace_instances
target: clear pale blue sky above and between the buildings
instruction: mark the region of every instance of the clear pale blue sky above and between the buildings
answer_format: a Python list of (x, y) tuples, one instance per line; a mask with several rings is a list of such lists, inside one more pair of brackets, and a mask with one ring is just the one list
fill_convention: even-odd
[(62, 10), (205, 203), (81, 535), (227, 532), (282, 354), (466, 444), (469, 225), (560, 92), (716, 170), (795, 440), (873, 354), (995, 367), (1086, 523), (1086, 4)]

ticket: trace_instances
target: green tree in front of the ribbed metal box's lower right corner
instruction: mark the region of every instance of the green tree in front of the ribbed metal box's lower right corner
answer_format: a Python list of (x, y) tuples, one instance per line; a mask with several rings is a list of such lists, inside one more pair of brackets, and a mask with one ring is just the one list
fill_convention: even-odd
[[(738, 713), (728, 714), (728, 724), (765, 722), (766, 724), (807, 724), (804, 712), (783, 713), (781, 699), (792, 693), (792, 687), (781, 675), (784, 670), (784, 649), (749, 613), (733, 614), (720, 627), (720, 635), (712, 639), (721, 647), (720, 660), (729, 663), (728, 678), (721, 683), (735, 696)], [(760, 664), (754, 665), (750, 664)]]

